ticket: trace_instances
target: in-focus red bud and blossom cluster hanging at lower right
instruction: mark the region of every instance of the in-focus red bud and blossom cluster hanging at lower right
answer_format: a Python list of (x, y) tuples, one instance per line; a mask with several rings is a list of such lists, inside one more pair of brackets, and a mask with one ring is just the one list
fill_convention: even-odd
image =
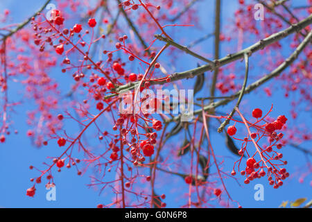
[[(271, 111), (272, 108), (269, 112)], [(267, 116), (268, 114), (266, 114), (265, 117)], [(272, 121), (270, 123), (266, 122), (265, 124), (261, 125), (259, 123), (261, 121), (265, 121), (265, 117), (262, 117), (262, 110), (260, 110), (259, 108), (252, 111), (252, 117), (257, 118), (257, 121), (255, 123), (250, 123), (249, 121), (245, 120), (242, 115), (241, 117), (243, 118), (243, 122), (247, 124), (246, 127), (248, 127), (248, 132), (250, 132), (250, 128), (255, 128), (257, 130), (257, 133), (250, 132), (248, 133), (248, 137), (242, 139), (243, 144), (241, 150), (239, 151), (241, 159), (235, 162), (235, 164), (239, 162), (238, 167), (240, 167), (241, 161), (243, 160), (243, 155), (248, 155), (245, 170), (240, 171), (241, 175), (246, 177), (244, 181), (245, 184), (250, 183), (251, 180), (268, 175), (269, 184), (274, 185), (274, 188), (280, 187), (281, 185), (283, 185), (283, 182), (281, 180), (285, 180), (289, 176), (289, 173), (286, 172), (286, 169), (280, 167), (281, 165), (287, 164), (287, 162), (281, 160), (281, 158), (283, 157), (281, 153), (272, 151), (273, 148), (282, 148), (282, 144), (279, 143), (279, 141), (283, 137), (283, 134), (279, 133), (277, 135), (275, 131), (281, 130), (281, 128), (287, 121), (286, 117), (284, 115), (281, 115), (277, 117), (276, 121)], [(233, 135), (233, 133), (236, 133), (236, 129), (233, 130), (232, 127), (233, 126), (230, 126), (227, 130), (227, 133), (229, 135)], [(261, 148), (261, 146), (259, 145), (260, 139), (263, 137), (268, 137), (270, 142), (269, 146), (266, 146), (265, 148)], [(250, 154), (250, 150), (247, 148), (248, 142), (251, 142), (256, 148), (256, 151), (253, 155)], [(257, 155), (259, 155), (260, 157), (260, 160), (258, 161), (255, 159)], [(236, 175), (236, 172), (233, 168), (232, 176), (234, 175)], [(275, 178), (275, 180), (273, 180), (273, 177)]]

